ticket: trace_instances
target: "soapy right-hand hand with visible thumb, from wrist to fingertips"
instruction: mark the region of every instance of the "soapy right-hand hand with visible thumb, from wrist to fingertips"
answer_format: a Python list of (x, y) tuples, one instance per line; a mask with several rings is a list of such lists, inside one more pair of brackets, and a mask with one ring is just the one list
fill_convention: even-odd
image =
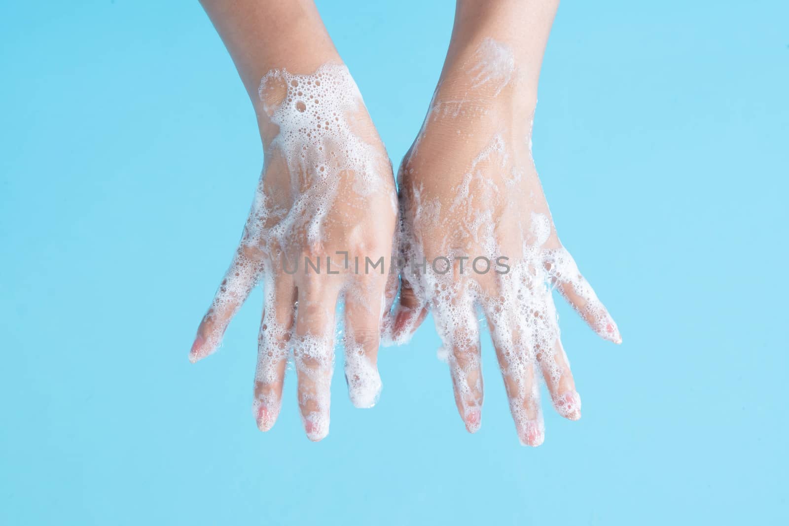
[(556, 234), (531, 155), (536, 89), (529, 84), (510, 46), (491, 38), (477, 39), (445, 65), (398, 173), (407, 263), (394, 338), (409, 338), (432, 308), (455, 403), (468, 431), (477, 431), (483, 399), (480, 308), (518, 436), (539, 446), (544, 423), (538, 374), (557, 412), (581, 417), (551, 287), (601, 337), (615, 343), (621, 338)]

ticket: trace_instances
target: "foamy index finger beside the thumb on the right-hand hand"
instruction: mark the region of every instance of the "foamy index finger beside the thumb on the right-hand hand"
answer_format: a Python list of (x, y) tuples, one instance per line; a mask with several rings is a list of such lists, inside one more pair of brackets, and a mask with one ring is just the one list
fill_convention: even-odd
[(458, 293), (451, 300), (434, 301), (436, 329), (443, 347), (439, 357), (447, 360), (454, 387), (454, 402), (466, 430), (475, 433), (482, 423), (482, 362), (480, 326), (471, 295)]

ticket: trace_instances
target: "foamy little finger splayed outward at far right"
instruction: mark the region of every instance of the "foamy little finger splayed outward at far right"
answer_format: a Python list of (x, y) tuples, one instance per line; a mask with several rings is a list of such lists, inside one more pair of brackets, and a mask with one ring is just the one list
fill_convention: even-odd
[(555, 281), (559, 293), (581, 315), (581, 318), (600, 338), (622, 343), (619, 329), (603, 303), (597, 299), (592, 286), (581, 275), (570, 252), (564, 248), (548, 251), (545, 257), (548, 274)]

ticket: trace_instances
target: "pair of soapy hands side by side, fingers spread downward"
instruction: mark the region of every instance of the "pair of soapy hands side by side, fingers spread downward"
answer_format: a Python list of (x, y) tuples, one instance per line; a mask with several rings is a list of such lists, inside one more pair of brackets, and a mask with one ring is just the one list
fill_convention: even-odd
[(458, 412), (468, 431), (477, 431), (481, 312), (521, 442), (544, 440), (540, 377), (559, 414), (580, 418), (552, 289), (597, 334), (621, 338), (555, 233), (532, 161), (531, 115), (509, 125), (495, 100), (458, 102), (442, 97), (439, 86), (398, 170), (397, 195), (391, 163), (345, 66), (269, 72), (260, 101), (264, 170), (189, 356), (213, 353), (251, 290), (263, 286), (252, 405), (261, 431), (279, 416), (292, 355), (307, 436), (328, 434), (338, 304), (357, 407), (372, 407), (380, 394), (382, 341), (406, 343), (432, 311)]

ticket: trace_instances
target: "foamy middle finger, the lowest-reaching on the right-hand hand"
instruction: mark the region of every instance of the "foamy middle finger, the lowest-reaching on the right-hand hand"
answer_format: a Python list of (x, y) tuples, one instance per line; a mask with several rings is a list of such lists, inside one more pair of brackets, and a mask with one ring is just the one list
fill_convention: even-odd
[(530, 320), (513, 314), (510, 302), (500, 300), (488, 303), (485, 314), (518, 438), (523, 446), (540, 446), (545, 439), (545, 424)]

